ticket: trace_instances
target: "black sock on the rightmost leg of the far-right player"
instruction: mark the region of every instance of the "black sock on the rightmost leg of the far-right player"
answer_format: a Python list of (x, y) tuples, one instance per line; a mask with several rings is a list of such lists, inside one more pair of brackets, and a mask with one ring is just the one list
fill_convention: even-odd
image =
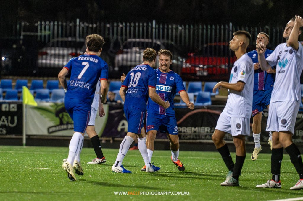
[(298, 147), (292, 143), (288, 147), (285, 148), (286, 152), (290, 156), (290, 161), (294, 164), (296, 171), (300, 175), (300, 179), (303, 179), (303, 163), (301, 158), (301, 153)]

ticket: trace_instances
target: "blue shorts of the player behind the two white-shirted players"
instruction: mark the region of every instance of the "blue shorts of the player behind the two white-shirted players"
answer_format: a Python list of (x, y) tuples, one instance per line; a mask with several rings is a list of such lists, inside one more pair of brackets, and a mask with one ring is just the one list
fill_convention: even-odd
[(255, 116), (259, 112), (263, 112), (270, 103), (272, 89), (268, 90), (256, 90), (252, 97), (252, 116)]

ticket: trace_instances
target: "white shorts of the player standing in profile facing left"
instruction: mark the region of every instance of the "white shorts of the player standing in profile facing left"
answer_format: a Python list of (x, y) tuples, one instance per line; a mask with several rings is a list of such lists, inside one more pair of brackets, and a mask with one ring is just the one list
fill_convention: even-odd
[(217, 130), (230, 133), (232, 136), (249, 136), (250, 134), (250, 123), (249, 119), (245, 117), (230, 117), (223, 110), (220, 114), (217, 126)]

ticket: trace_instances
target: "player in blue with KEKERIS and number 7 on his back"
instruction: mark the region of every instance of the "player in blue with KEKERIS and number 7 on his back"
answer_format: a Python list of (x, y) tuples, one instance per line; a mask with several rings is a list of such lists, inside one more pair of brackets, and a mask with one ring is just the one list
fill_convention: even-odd
[[(83, 146), (84, 131), (90, 119), (91, 105), (97, 82), (101, 81), (99, 115), (105, 115), (103, 103), (107, 94), (108, 65), (101, 59), (100, 53), (104, 39), (98, 34), (85, 38), (87, 54), (71, 59), (59, 72), (60, 84), (66, 91), (64, 106), (74, 121), (74, 135), (69, 143), (67, 161), (62, 168), (67, 172), (70, 180), (76, 180), (76, 174), (83, 175), (80, 163), (80, 153)], [(70, 72), (70, 85), (67, 86), (66, 75)], [(72, 165), (73, 164), (73, 165)]]

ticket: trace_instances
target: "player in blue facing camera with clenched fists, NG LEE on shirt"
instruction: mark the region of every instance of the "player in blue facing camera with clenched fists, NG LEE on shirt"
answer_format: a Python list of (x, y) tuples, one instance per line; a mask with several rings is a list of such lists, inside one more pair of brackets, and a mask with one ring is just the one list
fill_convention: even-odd
[[(155, 70), (157, 73), (156, 92), (163, 101), (170, 103), (170, 107), (165, 109), (152, 101), (151, 98), (148, 99), (146, 113), (147, 153), (151, 160), (157, 131), (165, 132), (170, 141), (171, 161), (177, 166), (179, 171), (184, 171), (184, 165), (178, 159), (179, 137), (174, 108), (174, 97), (176, 93), (178, 92), (180, 94), (181, 99), (187, 104), (189, 109), (193, 110), (195, 106), (194, 103), (189, 101), (180, 75), (169, 69), (172, 63), (171, 51), (161, 49), (158, 55), (160, 68)], [(141, 171), (145, 171), (145, 168), (146, 166), (143, 166)]]

